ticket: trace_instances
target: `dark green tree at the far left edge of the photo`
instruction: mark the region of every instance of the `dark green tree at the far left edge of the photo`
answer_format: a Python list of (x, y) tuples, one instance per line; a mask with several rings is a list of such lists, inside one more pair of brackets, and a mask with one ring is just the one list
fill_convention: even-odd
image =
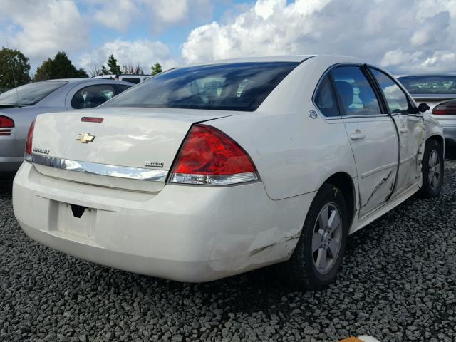
[(30, 82), (28, 58), (19, 50), (0, 50), (0, 88), (16, 88)]

